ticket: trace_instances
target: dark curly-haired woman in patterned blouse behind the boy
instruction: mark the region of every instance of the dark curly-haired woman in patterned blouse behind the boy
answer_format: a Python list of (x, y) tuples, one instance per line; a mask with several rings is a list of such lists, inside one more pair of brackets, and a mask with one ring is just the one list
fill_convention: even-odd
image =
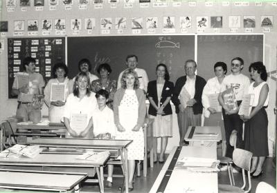
[(112, 110), (117, 83), (116, 80), (109, 79), (109, 74), (111, 74), (111, 66), (108, 63), (102, 63), (99, 65), (97, 72), (100, 75), (100, 79), (91, 82), (92, 92), (98, 92), (100, 89), (107, 90), (109, 93), (107, 106)]

